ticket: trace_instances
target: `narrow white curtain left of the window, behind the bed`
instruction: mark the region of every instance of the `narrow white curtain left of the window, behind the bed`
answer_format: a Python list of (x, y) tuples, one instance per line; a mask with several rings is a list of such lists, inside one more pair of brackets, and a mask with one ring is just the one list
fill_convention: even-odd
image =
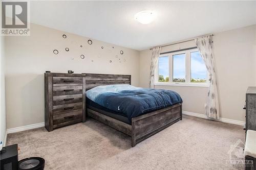
[(154, 85), (155, 85), (155, 80), (156, 80), (155, 72), (156, 72), (160, 51), (161, 51), (161, 46), (154, 47), (152, 51), (151, 66), (150, 66), (150, 88), (154, 88)]

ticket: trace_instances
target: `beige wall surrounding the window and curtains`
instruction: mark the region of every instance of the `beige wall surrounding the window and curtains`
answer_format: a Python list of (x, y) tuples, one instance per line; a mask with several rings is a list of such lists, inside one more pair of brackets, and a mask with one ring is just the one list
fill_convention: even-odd
[[(222, 118), (245, 121), (245, 92), (248, 86), (256, 85), (256, 25), (216, 33), (213, 51)], [(194, 46), (186, 42), (162, 48), (162, 52)], [(140, 52), (140, 86), (148, 87), (151, 51)], [(207, 101), (206, 87), (156, 86), (179, 92), (183, 99), (183, 110), (204, 114)]]

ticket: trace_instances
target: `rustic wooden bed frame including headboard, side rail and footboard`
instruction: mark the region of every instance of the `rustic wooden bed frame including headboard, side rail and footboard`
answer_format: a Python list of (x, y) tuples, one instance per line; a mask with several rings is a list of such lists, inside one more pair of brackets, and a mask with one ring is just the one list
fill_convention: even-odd
[[(86, 90), (99, 85), (130, 84), (131, 75), (86, 74)], [(106, 116), (106, 111), (86, 106), (87, 115), (132, 137), (132, 147), (182, 120), (182, 103), (132, 118), (132, 125)]]

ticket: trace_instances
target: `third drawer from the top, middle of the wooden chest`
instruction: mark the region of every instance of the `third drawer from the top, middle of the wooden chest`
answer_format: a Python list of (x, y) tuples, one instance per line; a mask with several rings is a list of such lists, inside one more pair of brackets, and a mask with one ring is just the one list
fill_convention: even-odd
[(82, 102), (82, 94), (53, 96), (53, 106)]

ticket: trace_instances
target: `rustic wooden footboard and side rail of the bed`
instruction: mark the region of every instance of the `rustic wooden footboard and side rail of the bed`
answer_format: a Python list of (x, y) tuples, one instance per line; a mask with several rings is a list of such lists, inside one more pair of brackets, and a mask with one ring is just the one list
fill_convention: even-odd
[[(132, 125), (102, 114), (105, 111), (88, 106), (87, 114), (132, 137), (132, 147), (182, 119), (182, 103), (132, 118)], [(96, 111), (97, 110), (97, 111)]]

